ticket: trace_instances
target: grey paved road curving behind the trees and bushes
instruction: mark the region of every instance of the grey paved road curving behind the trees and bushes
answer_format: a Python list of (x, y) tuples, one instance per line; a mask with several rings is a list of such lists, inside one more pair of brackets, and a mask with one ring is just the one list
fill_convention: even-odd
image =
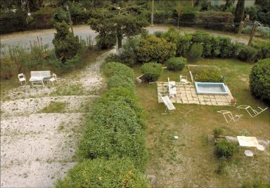
[[(154, 26), (154, 27), (147, 27), (146, 29), (149, 33), (154, 33), (155, 31), (167, 31), (169, 27), (167, 26)], [(192, 27), (180, 27), (182, 32), (195, 32), (195, 28)], [(49, 49), (53, 48), (53, 44), (51, 43), (54, 37), (54, 33), (56, 30), (49, 29), (49, 30), (32, 30), (32, 31), (24, 31), (24, 32), (14, 32), (7, 35), (1, 35), (1, 44), (6, 46), (11, 45), (22, 45), (28, 48), (30, 46), (30, 41), (37, 40), (37, 37), (42, 39), (42, 44), (47, 44)], [(88, 25), (77, 25), (74, 27), (75, 35), (82, 37), (82, 39), (86, 39), (86, 36), (91, 35), (92, 39), (98, 35), (94, 30), (91, 30)], [(243, 36), (240, 38), (233, 37), (231, 34), (224, 34), (222, 32), (213, 32), (212, 30), (205, 30), (205, 32), (209, 32), (215, 36), (227, 36), (231, 37), (231, 39), (236, 42), (243, 42), (248, 44), (247, 37)]]

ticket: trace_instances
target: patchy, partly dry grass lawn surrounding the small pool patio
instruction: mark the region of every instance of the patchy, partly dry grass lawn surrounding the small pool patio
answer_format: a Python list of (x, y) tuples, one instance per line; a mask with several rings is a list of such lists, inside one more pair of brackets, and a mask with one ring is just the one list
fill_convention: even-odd
[[(267, 107), (250, 94), (249, 74), (252, 64), (233, 59), (201, 59), (195, 64), (219, 66), (237, 105)], [(134, 70), (136, 76), (141, 75), (139, 66)], [(169, 77), (179, 82), (179, 75), (186, 73), (186, 69), (182, 73), (162, 70), (158, 81), (167, 82)], [(224, 135), (236, 137), (241, 132), (248, 132), (250, 136), (269, 140), (269, 111), (250, 118), (244, 110), (237, 110), (233, 106), (174, 104), (174, 113), (162, 115), (165, 105), (158, 104), (156, 84), (136, 84), (136, 94), (146, 114), (146, 137), (150, 153), (147, 173), (158, 176), (158, 187), (239, 187), (244, 180), (253, 180), (255, 177), (269, 180), (269, 146), (265, 151), (252, 149), (255, 151), (254, 158), (245, 158), (244, 149), (239, 149), (228, 161), (224, 173), (218, 174), (219, 160), (214, 154), (214, 144), (207, 139), (207, 134), (221, 127)], [(243, 117), (236, 123), (226, 124), (224, 117), (217, 113), (219, 110), (243, 114)], [(174, 139), (174, 135), (179, 136), (179, 139)]]

